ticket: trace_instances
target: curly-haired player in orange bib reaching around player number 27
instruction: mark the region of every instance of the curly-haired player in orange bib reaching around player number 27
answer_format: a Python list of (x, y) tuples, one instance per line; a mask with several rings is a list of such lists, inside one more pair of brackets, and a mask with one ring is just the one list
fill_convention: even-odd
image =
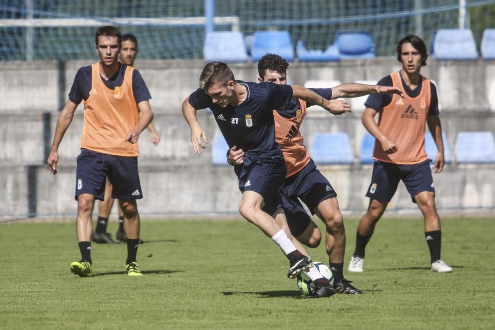
[[(289, 63), (276, 54), (266, 54), (258, 62), (259, 82), (287, 84)], [(356, 97), (366, 94), (400, 94), (395, 87), (343, 84), (334, 88), (310, 89), (326, 99), (338, 97)], [(287, 167), (286, 179), (280, 192), (282, 208), (292, 236), (309, 246), (319, 245), (321, 233), (311, 221), (298, 198), (316, 214), (326, 226), (326, 250), (329, 265), (334, 275), (335, 291), (347, 294), (360, 294), (361, 290), (352, 286), (344, 278), (344, 252), (346, 249), (346, 231), (344, 218), (339, 209), (337, 193), (330, 182), (318, 171), (309, 152), (303, 144), (299, 127), (306, 110), (313, 103), (293, 98), (286, 104), (273, 110), (275, 118), (275, 140), (281, 145)], [(236, 146), (229, 152), (228, 161), (232, 165), (243, 162), (244, 152)], [(277, 215), (279, 216), (279, 215)]]

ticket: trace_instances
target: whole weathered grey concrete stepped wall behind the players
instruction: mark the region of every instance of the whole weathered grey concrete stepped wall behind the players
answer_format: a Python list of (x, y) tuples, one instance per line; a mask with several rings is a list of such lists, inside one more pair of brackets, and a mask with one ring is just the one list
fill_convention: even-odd
[[(0, 200), (2, 216), (73, 216), (76, 202), (75, 159), (83, 125), (78, 109), (59, 148), (58, 174), (46, 165), (58, 111), (67, 98), (77, 69), (89, 63), (0, 63)], [(148, 84), (155, 111), (154, 124), (161, 142), (153, 146), (149, 133), (140, 138), (140, 178), (145, 198), (139, 202), (144, 215), (238, 214), (241, 197), (231, 167), (211, 165), (211, 145), (195, 155), (190, 130), (182, 113), (182, 100), (198, 86), (201, 61), (143, 61), (137, 67)], [(232, 65), (236, 77), (254, 81), (252, 63)], [(342, 82), (378, 80), (398, 69), (394, 59), (349, 60), (340, 63), (291, 63), (289, 78), (294, 84), (309, 79), (338, 79)], [(64, 69), (64, 70), (62, 70)], [(62, 74), (63, 73), (63, 74)], [(495, 210), (495, 165), (458, 165), (454, 144), (461, 131), (494, 131), (495, 112), (489, 110), (488, 87), (495, 77), (495, 62), (436, 62), (429, 60), (423, 73), (434, 79), (442, 103), (442, 124), (452, 164), (434, 175), (437, 203), (441, 210)], [(211, 114), (198, 112), (198, 120), (210, 141), (218, 128)], [(364, 212), (371, 166), (359, 165), (359, 145), (365, 129), (360, 114), (331, 116), (309, 110), (301, 132), (311, 145), (318, 132), (346, 132), (354, 151), (352, 166), (320, 167), (339, 193), (345, 212)], [(390, 208), (419, 214), (403, 185)]]

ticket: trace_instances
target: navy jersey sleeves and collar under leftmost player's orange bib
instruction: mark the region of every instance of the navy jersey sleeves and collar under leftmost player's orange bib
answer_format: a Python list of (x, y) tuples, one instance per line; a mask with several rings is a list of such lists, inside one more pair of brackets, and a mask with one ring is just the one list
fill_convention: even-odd
[[(114, 90), (115, 87), (120, 87), (124, 81), (124, 74), (127, 65), (120, 64), (120, 69), (115, 73), (110, 79), (104, 80), (103, 77), (101, 81), (110, 90)], [(77, 70), (76, 76), (74, 77), (74, 82), (72, 83), (72, 88), (69, 92), (69, 100), (79, 104), (84, 99), (88, 99), (91, 91), (91, 76), (92, 76), (91, 65), (83, 66)], [(149, 94), (148, 87), (146, 86), (141, 74), (138, 70), (134, 69), (132, 73), (132, 92), (136, 103), (141, 101), (147, 101), (151, 98)]]

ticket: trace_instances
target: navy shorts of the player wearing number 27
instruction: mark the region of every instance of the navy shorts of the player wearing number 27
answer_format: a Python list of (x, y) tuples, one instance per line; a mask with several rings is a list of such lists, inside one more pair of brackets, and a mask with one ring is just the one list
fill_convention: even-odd
[[(278, 189), (284, 182), (286, 174), (285, 161), (256, 161), (250, 166), (243, 166), (238, 174), (239, 190), (252, 190), (263, 196), (263, 210), (270, 215), (280, 203)], [(272, 211), (273, 210), (273, 211)]]

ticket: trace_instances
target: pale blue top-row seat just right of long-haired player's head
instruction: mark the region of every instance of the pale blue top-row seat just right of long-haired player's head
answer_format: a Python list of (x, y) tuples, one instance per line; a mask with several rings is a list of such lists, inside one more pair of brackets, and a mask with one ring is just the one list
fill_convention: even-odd
[(469, 29), (438, 30), (433, 51), (438, 59), (474, 60), (478, 58), (473, 32)]

